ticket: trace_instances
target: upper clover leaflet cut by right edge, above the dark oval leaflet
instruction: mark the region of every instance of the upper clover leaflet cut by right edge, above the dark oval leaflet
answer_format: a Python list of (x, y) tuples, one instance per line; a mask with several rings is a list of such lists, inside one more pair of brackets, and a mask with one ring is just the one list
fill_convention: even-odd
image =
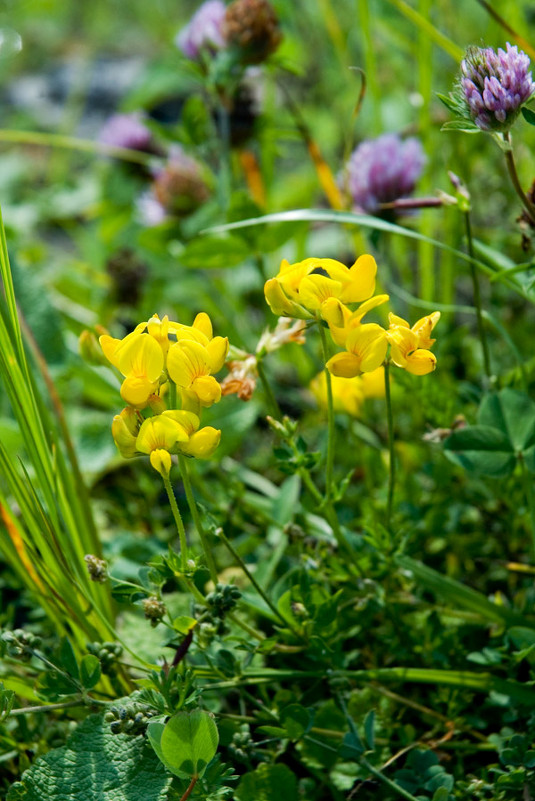
[(504, 432), (517, 453), (535, 443), (535, 403), (525, 392), (507, 388), (486, 395), (478, 423)]

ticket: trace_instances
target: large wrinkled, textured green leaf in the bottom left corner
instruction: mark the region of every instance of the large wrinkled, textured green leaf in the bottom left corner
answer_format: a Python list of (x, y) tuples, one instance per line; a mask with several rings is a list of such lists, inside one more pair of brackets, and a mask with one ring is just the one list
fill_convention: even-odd
[(144, 737), (112, 734), (90, 715), (66, 745), (39, 757), (8, 801), (165, 801), (169, 778)]

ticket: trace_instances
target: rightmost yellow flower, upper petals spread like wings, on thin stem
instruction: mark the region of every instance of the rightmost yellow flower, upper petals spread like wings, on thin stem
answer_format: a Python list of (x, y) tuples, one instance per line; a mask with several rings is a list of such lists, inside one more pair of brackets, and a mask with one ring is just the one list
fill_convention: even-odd
[(413, 375), (427, 375), (436, 368), (437, 359), (429, 348), (435, 340), (430, 338), (431, 331), (440, 319), (440, 312), (422, 317), (412, 328), (406, 320), (389, 315), (390, 328), (387, 338), (390, 343), (390, 355), (396, 367), (401, 367)]

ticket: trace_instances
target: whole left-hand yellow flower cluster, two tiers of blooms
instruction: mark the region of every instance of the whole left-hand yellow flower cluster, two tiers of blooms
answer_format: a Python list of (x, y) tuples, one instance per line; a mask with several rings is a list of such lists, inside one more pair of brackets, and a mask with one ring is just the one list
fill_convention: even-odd
[(213, 373), (223, 366), (229, 344), (213, 336), (207, 314), (198, 314), (191, 326), (154, 315), (124, 339), (101, 336), (100, 345), (124, 377), (121, 397), (128, 405), (112, 423), (122, 456), (148, 454), (154, 469), (168, 475), (172, 453), (201, 459), (213, 454), (221, 431), (201, 428), (200, 415), (221, 399)]

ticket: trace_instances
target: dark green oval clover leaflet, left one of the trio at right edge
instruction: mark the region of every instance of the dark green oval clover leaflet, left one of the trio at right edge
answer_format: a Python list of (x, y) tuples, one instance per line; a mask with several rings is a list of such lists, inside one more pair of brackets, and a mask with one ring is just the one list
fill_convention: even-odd
[(516, 458), (506, 434), (488, 425), (454, 431), (444, 442), (449, 458), (466, 470), (485, 476), (510, 475)]

